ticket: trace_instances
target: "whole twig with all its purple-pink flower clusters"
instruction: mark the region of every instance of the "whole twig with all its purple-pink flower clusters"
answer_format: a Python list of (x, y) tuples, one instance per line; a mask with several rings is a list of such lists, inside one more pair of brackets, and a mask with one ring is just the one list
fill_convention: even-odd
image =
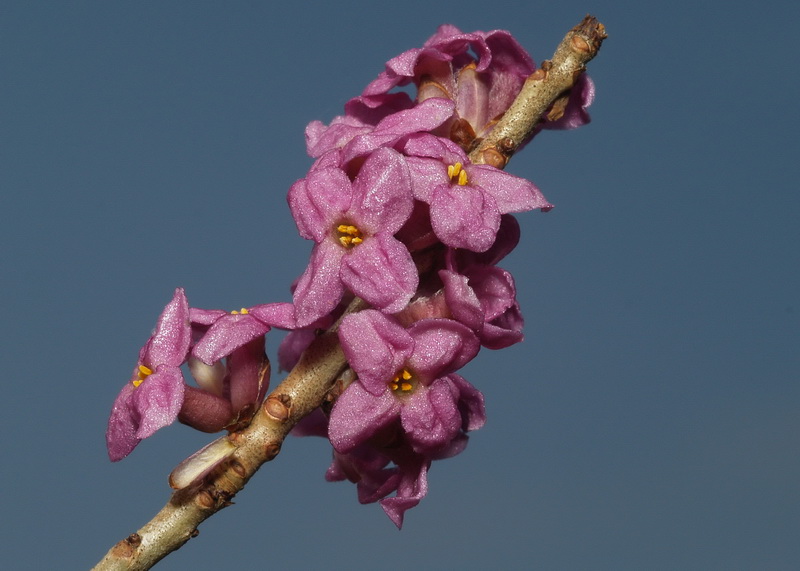
[[(435, 462), (486, 421), (460, 369), (523, 340), (517, 286), (498, 264), (519, 243), (514, 215), (552, 204), (503, 168), (542, 129), (589, 121), (584, 66), (604, 38), (587, 16), (537, 68), (506, 31), (441, 26), (343, 115), (309, 124), (315, 162), (288, 203), (313, 249), (292, 300), (227, 312), (175, 290), (113, 404), (109, 457), (176, 420), (225, 434), (178, 465), (167, 506), (96, 569), (147, 569), (180, 547), (290, 432), (327, 438), (325, 478), (354, 483), (402, 527)], [(274, 328), (289, 331), (279, 357), (291, 370), (267, 396)]]

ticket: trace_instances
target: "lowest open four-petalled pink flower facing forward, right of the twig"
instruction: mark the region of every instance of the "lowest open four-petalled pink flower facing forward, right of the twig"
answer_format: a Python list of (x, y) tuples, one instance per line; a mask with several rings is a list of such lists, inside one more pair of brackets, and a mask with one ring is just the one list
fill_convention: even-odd
[(419, 453), (443, 449), (485, 421), (483, 396), (454, 371), (479, 349), (475, 335), (451, 319), (424, 319), (404, 329), (375, 310), (349, 315), (339, 329), (358, 375), (331, 411), (329, 438), (342, 453), (399, 419)]

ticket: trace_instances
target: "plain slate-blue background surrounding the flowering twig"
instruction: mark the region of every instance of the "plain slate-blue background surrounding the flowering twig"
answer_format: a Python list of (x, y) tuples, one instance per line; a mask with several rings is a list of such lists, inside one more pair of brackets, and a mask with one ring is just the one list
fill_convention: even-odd
[(291, 440), (158, 568), (800, 568), (800, 8), (713, 4), (4, 2), (9, 568), (91, 567), (209, 440), (176, 425), (111, 464), (104, 431), (176, 286), (289, 299), (307, 122), (441, 23), (539, 62), (587, 12), (609, 33), (593, 122), (509, 166), (556, 208), (503, 264), (525, 343), (465, 371), (486, 427), (402, 532)]

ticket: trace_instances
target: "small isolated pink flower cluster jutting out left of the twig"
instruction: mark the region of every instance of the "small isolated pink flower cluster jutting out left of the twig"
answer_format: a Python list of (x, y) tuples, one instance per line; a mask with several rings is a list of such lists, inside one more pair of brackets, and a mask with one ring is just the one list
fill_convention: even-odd
[[(190, 308), (184, 290), (176, 289), (114, 401), (106, 432), (111, 460), (125, 458), (175, 420), (204, 432), (249, 421), (269, 384), (269, 329), (246, 309)], [(184, 364), (197, 386), (186, 383)]]

